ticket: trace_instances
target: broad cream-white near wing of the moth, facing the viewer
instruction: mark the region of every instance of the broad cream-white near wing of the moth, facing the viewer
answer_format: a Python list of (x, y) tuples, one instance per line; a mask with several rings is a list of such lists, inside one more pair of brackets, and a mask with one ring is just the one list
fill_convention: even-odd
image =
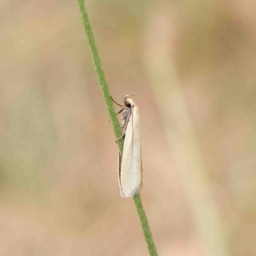
[(133, 197), (142, 187), (141, 140), (139, 109), (134, 104), (124, 138), (120, 173), (123, 197)]

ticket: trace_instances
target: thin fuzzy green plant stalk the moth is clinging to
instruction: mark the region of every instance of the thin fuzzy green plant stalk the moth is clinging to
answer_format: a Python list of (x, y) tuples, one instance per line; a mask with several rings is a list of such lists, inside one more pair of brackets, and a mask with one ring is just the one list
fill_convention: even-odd
[[(104, 97), (104, 100), (105, 100), (105, 103), (106, 103), (106, 106), (108, 109), (109, 118), (111, 120), (113, 130), (115, 132), (115, 137), (120, 138), (120, 136), (122, 136), (122, 129), (118, 122), (118, 118), (117, 118), (116, 111), (115, 111), (115, 106), (110, 97), (108, 83), (106, 81), (106, 77), (105, 77), (105, 74), (104, 74), (104, 71), (103, 71), (103, 68), (101, 65), (99, 52), (98, 52), (97, 46), (95, 44), (95, 39), (94, 39), (94, 36), (92, 33), (92, 27), (90, 25), (90, 21), (89, 21), (88, 13), (86, 10), (86, 6), (84, 4), (84, 0), (77, 0), (77, 4), (79, 6), (79, 12), (80, 12), (81, 19), (83, 22), (84, 32), (88, 39), (88, 45), (89, 45), (90, 52), (92, 55), (93, 64), (94, 64), (94, 67), (95, 67), (95, 70), (97, 73), (98, 81), (100, 84), (100, 89), (101, 89), (102, 95)], [(119, 148), (120, 154), (122, 155), (123, 148), (124, 148), (124, 138), (122, 138), (121, 140), (118, 140), (118, 148)], [(147, 221), (147, 216), (143, 209), (140, 194), (138, 193), (136, 196), (134, 196), (133, 200), (134, 200), (134, 204), (136, 206), (137, 212), (138, 212), (138, 216), (140, 218), (140, 223), (141, 223), (141, 227), (143, 229), (143, 234), (144, 234), (145, 240), (147, 242), (148, 252), (150, 253), (150, 256), (157, 256), (156, 246), (155, 246), (152, 234), (150, 232), (150, 228), (149, 228), (148, 221)]]

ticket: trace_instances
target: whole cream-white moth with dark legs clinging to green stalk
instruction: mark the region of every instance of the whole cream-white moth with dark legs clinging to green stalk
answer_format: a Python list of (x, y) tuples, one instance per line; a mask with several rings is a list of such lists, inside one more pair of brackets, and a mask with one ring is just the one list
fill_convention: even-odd
[(139, 109), (134, 101), (124, 98), (124, 106), (118, 112), (122, 113), (122, 136), (124, 137), (124, 150), (121, 157), (118, 152), (118, 183), (120, 194), (124, 198), (131, 198), (142, 188), (142, 163), (141, 163), (141, 140), (140, 140), (140, 116)]

